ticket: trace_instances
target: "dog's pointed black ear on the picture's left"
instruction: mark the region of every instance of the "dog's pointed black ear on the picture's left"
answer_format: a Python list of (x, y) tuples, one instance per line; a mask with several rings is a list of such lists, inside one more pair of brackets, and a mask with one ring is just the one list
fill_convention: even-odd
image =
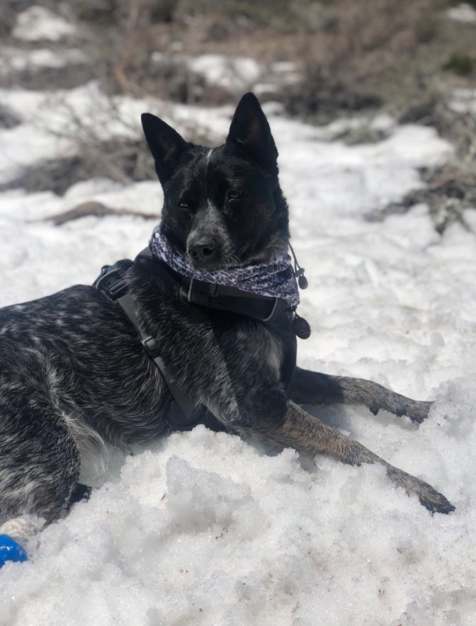
[(171, 177), (187, 143), (176, 130), (151, 113), (142, 113), (142, 128), (162, 186)]

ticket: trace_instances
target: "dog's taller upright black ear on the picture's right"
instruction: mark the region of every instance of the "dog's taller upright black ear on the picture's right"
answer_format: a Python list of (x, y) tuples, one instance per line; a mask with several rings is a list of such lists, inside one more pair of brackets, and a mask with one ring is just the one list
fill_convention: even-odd
[(278, 150), (266, 115), (254, 93), (245, 93), (234, 112), (227, 144), (237, 145), (269, 171), (277, 171)]

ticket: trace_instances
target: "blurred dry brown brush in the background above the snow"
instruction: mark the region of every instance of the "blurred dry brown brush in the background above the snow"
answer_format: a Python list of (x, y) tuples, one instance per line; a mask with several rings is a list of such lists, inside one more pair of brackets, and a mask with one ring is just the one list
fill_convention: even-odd
[[(6, 40), (16, 11), (28, 4), (6, 0), (0, 18)], [(448, 184), (433, 185), (432, 177), (440, 181), (441, 171), (425, 173), (438, 229), (473, 202), (471, 194), (460, 194), (459, 209), (441, 217), (433, 201), (438, 194), (453, 198), (453, 179), (470, 186), (468, 176), (475, 169), (475, 115), (458, 113), (446, 103), (453, 88), (476, 86), (476, 25), (446, 16), (450, 6), (459, 4), (456, 0), (69, 0), (59, 9), (53, 0), (38, 4), (78, 21), (75, 43), (87, 51), (90, 62), (75, 72), (23, 70), (13, 79), (10, 76), (10, 82), (55, 89), (94, 76), (110, 95), (211, 106), (236, 101), (237, 94), (206, 84), (191, 72), (187, 57), (216, 52), (252, 56), (265, 65), (293, 61), (301, 79), (261, 99), (279, 100), (289, 115), (312, 123), (386, 108), (404, 123), (434, 125), (457, 147), (444, 174)], [(476, 0), (468, 4), (476, 6)], [(361, 140), (368, 141), (368, 133)], [(42, 171), (30, 169), (22, 183), (64, 193), (72, 181), (93, 173), (115, 180), (149, 177), (140, 140), (118, 142), (81, 138), (76, 157), (45, 164)], [(411, 204), (407, 198), (387, 210), (404, 210)]]

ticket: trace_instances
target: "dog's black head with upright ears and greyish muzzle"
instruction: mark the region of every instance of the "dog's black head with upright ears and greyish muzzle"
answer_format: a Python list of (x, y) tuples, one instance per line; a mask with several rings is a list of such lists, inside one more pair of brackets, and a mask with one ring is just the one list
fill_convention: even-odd
[(270, 261), (287, 251), (278, 151), (252, 93), (239, 102), (227, 140), (217, 148), (187, 143), (150, 113), (142, 115), (142, 127), (164, 190), (162, 232), (194, 268)]

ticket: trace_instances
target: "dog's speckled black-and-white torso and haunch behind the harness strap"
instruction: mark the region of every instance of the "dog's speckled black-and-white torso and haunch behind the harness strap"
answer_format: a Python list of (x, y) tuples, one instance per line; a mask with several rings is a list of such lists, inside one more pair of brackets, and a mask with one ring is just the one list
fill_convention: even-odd
[(163, 381), (120, 308), (90, 287), (0, 310), (0, 514), (52, 520), (80, 452), (154, 440)]

